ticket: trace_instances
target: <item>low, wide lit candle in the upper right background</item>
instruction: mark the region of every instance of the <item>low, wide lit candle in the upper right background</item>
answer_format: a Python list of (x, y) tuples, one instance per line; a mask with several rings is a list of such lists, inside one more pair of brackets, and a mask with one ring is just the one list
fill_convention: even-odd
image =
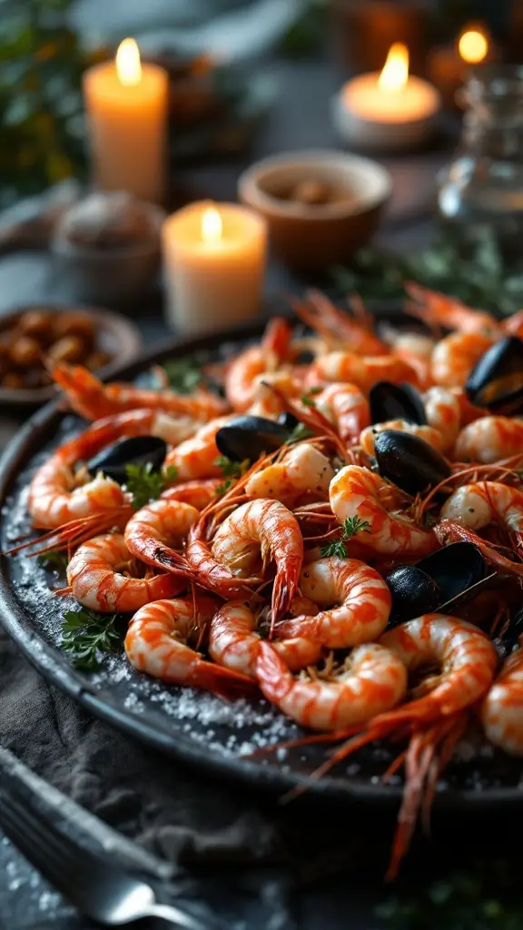
[(436, 87), (409, 74), (409, 50), (396, 42), (381, 73), (361, 74), (342, 87), (333, 116), (349, 143), (398, 149), (427, 135), (439, 107)]

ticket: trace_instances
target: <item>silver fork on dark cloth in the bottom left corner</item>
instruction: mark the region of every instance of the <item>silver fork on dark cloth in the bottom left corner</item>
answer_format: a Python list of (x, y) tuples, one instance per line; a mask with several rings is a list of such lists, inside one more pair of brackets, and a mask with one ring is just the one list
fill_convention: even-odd
[(22, 799), (12, 785), (2, 786), (0, 823), (23, 856), (92, 920), (125, 926), (154, 917), (176, 930), (224, 930), (214, 918), (204, 923), (186, 910), (156, 904), (150, 885), (65, 836), (49, 815)]

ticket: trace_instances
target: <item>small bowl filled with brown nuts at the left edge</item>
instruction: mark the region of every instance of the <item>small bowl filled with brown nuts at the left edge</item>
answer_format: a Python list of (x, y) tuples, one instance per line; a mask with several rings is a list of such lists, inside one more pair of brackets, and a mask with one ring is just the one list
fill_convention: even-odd
[(56, 395), (47, 367), (84, 365), (101, 378), (135, 358), (141, 336), (106, 310), (42, 304), (0, 317), (0, 404), (37, 406)]

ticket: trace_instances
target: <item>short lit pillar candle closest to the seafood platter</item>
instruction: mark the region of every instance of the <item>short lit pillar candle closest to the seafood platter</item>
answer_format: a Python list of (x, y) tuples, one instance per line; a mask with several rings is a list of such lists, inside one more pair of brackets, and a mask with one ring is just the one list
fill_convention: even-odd
[(162, 230), (168, 321), (185, 334), (218, 330), (260, 309), (265, 221), (246, 206), (198, 203)]

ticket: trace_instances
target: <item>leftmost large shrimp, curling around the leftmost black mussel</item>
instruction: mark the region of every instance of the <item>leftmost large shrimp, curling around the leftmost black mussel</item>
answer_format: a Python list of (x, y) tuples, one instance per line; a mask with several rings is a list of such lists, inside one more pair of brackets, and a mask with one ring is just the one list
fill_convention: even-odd
[(130, 410), (103, 419), (60, 445), (31, 482), (27, 506), (34, 525), (52, 529), (78, 517), (106, 512), (109, 523), (105, 528), (109, 529), (111, 515), (127, 502), (126, 494), (111, 478), (97, 475), (89, 479), (85, 469), (74, 471), (74, 466), (117, 439), (147, 434), (165, 438), (166, 424), (170, 430), (172, 420), (158, 415), (156, 410)]

